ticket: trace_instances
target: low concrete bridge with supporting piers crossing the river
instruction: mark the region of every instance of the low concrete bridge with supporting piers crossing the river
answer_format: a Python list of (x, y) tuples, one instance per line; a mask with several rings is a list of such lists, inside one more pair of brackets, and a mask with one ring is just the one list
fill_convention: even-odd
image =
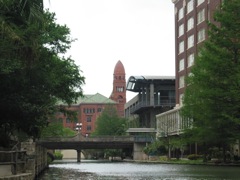
[(81, 160), (82, 149), (131, 149), (133, 159), (141, 160), (144, 156), (142, 149), (150, 139), (134, 136), (101, 136), (84, 137), (77, 134), (71, 138), (46, 138), (36, 143), (47, 149), (74, 149), (77, 151), (77, 161)]

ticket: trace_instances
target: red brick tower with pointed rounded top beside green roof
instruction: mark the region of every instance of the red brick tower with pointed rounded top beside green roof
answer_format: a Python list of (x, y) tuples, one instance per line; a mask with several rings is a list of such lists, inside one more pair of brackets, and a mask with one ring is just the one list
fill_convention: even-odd
[(118, 115), (124, 117), (124, 105), (126, 103), (126, 79), (125, 69), (119, 60), (113, 73), (113, 90), (110, 99), (116, 101)]

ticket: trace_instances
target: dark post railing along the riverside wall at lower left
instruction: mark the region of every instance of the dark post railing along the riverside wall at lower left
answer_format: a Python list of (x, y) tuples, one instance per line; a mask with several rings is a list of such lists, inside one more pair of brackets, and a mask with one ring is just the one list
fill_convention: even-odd
[(16, 175), (18, 164), (26, 163), (26, 151), (0, 151), (0, 166), (11, 165), (12, 174)]

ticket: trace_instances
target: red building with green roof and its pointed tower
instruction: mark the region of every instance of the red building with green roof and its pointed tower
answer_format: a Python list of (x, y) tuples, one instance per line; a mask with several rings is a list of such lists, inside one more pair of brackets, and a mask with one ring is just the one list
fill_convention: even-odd
[(126, 103), (126, 80), (125, 69), (122, 62), (119, 60), (114, 68), (113, 74), (113, 90), (110, 98), (107, 98), (99, 93), (92, 95), (84, 95), (80, 97), (76, 103), (70, 107), (66, 106), (68, 110), (77, 113), (76, 119), (72, 120), (63, 113), (56, 113), (56, 119), (63, 123), (64, 127), (76, 130), (77, 123), (81, 123), (81, 134), (84, 136), (90, 135), (96, 129), (96, 120), (108, 105), (116, 108), (120, 117), (124, 117), (124, 105)]

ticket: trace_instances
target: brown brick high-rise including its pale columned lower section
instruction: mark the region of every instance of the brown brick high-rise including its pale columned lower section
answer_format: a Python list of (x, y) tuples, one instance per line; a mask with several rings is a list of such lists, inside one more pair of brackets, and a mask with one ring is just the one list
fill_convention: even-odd
[[(175, 7), (175, 77), (176, 107), (158, 114), (157, 137), (179, 135), (190, 125), (182, 119), (180, 109), (186, 89), (185, 78), (190, 75), (199, 48), (208, 38), (208, 22), (214, 23), (214, 12), (223, 0), (172, 0)], [(195, 146), (192, 153), (197, 153)]]

